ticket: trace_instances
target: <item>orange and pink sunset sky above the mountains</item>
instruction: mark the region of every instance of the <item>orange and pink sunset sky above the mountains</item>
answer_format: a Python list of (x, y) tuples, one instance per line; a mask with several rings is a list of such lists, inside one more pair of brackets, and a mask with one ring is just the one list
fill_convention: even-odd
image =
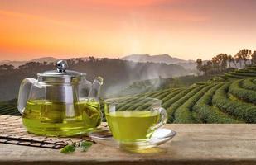
[(254, 0), (0, 0), (0, 60), (256, 50)]

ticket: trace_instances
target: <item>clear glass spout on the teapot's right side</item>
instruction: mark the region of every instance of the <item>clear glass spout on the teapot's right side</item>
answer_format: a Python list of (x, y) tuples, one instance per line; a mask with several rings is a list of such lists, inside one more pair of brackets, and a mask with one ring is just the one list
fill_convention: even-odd
[(93, 85), (89, 91), (89, 96), (88, 96), (89, 101), (99, 101), (99, 91), (102, 84), (103, 84), (103, 78), (101, 77), (94, 78)]

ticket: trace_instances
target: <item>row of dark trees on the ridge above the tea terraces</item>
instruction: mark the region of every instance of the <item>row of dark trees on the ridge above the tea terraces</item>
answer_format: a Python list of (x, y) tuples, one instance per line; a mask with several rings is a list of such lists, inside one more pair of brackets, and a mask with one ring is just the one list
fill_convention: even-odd
[[(250, 61), (250, 63), (248, 63)], [(234, 64), (234, 68), (242, 68), (248, 64), (256, 64), (256, 51), (243, 49), (239, 50), (237, 54), (228, 55), (228, 54), (218, 54), (215, 55), (211, 60), (208, 60), (206, 63), (203, 63), (202, 59), (196, 60), (196, 68), (199, 71), (198, 74), (203, 73), (205, 75), (215, 74), (215, 73), (226, 73), (231, 67), (231, 64)]]

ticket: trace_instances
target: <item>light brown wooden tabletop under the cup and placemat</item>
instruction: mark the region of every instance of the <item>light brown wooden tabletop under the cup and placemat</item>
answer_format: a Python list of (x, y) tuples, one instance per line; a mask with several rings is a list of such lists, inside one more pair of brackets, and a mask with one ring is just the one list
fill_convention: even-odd
[(0, 144), (0, 164), (256, 164), (256, 125), (166, 125), (177, 135), (167, 144), (127, 153), (94, 144), (86, 153)]

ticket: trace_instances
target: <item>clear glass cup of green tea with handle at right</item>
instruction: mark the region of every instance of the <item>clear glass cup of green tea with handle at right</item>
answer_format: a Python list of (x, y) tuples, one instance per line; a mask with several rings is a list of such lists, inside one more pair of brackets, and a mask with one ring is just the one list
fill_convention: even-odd
[(109, 130), (119, 142), (149, 139), (167, 121), (161, 101), (153, 98), (108, 99), (104, 101), (104, 111)]

